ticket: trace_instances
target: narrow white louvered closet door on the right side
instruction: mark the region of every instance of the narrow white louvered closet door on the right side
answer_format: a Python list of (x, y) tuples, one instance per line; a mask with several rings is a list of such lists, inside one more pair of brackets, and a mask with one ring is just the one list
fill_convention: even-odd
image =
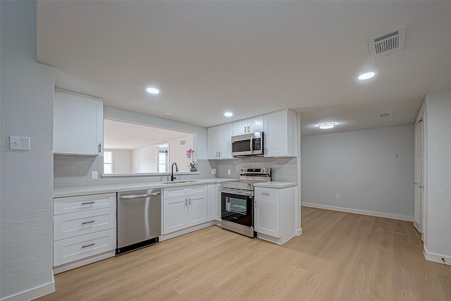
[[(414, 226), (424, 233), (424, 122), (415, 125), (415, 208)], [(423, 236), (421, 235), (421, 238)]]

